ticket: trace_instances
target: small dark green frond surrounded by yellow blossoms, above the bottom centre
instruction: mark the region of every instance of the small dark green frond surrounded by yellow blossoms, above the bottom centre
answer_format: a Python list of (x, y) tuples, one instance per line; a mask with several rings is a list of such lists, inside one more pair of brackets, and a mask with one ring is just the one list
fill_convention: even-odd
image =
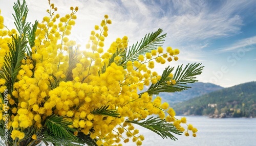
[(94, 109), (91, 111), (92, 114), (98, 114), (98, 115), (106, 115), (106, 116), (113, 116), (118, 117), (119, 113), (117, 113), (116, 110), (108, 109), (109, 106), (102, 106), (100, 108)]

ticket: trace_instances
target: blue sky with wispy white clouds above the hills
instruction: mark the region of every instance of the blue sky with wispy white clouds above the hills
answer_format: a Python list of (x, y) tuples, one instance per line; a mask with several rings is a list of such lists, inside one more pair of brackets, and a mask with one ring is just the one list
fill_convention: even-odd
[[(14, 28), (12, 6), (15, 0), (0, 0), (4, 23)], [(28, 21), (41, 21), (47, 16), (48, 0), (27, 0)], [(81, 44), (89, 40), (95, 25), (105, 14), (112, 24), (105, 39), (107, 48), (117, 37), (129, 38), (129, 45), (140, 41), (147, 33), (163, 29), (163, 47), (179, 48), (177, 62), (158, 65), (161, 74), (167, 66), (202, 63), (200, 82), (223, 87), (256, 81), (256, 0), (51, 0), (61, 16), (70, 7), (79, 7), (71, 39)]]

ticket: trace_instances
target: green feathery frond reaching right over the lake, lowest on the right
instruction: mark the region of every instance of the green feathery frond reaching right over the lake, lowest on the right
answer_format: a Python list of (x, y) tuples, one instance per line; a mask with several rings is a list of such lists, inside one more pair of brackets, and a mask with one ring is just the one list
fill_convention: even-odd
[(167, 123), (165, 119), (159, 117), (150, 117), (144, 121), (138, 120), (127, 120), (128, 123), (133, 123), (139, 126), (142, 126), (148, 130), (155, 132), (160, 135), (162, 138), (170, 138), (176, 140), (177, 138), (173, 134), (181, 135), (182, 132), (176, 129), (173, 124)]

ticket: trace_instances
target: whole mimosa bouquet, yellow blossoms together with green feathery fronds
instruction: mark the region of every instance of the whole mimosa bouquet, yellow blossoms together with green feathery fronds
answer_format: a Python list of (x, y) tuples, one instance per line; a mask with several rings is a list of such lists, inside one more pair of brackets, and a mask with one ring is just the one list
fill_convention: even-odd
[(3, 145), (141, 145), (139, 125), (162, 138), (196, 136), (197, 129), (178, 119), (160, 92), (177, 92), (195, 83), (200, 63), (155, 65), (178, 60), (178, 49), (162, 46), (162, 29), (129, 46), (127, 36), (107, 48), (108, 15), (81, 47), (68, 36), (78, 7), (60, 16), (49, 1), (48, 16), (26, 21), (26, 2), (14, 4), (15, 29), (0, 15), (0, 135)]

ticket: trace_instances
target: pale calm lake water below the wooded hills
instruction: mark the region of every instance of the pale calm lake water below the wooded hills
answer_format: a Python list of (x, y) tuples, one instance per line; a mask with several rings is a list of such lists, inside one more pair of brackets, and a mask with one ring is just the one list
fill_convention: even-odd
[[(157, 146), (255, 146), (256, 118), (208, 118), (206, 116), (186, 116), (187, 123), (198, 129), (197, 137), (178, 135), (178, 140), (162, 139), (159, 135), (141, 128), (145, 140), (142, 145)], [(177, 118), (180, 118), (177, 116)], [(190, 134), (191, 135), (191, 134)], [(136, 145), (129, 143), (124, 145)]]

